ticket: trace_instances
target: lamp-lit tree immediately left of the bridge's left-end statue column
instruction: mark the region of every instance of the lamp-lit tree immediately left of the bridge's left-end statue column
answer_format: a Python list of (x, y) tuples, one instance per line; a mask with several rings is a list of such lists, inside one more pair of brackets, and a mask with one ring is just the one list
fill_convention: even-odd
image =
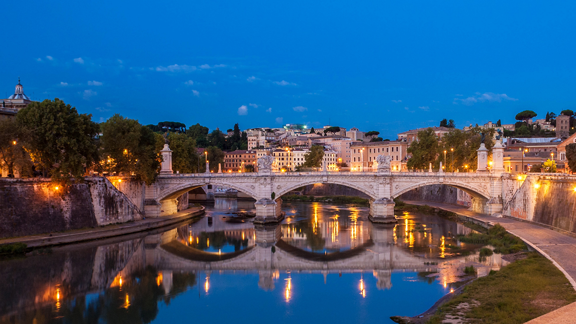
[(150, 185), (160, 171), (158, 149), (164, 138), (138, 120), (113, 115), (101, 124), (100, 144), (104, 160), (101, 168), (117, 174), (134, 174), (136, 179)]

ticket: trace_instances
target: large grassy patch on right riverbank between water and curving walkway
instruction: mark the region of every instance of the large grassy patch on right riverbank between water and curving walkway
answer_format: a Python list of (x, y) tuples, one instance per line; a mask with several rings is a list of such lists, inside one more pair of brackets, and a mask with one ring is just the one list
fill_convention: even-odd
[(426, 323), (439, 324), (448, 316), (464, 323), (520, 324), (576, 301), (570, 282), (552, 262), (527, 254), (471, 282)]

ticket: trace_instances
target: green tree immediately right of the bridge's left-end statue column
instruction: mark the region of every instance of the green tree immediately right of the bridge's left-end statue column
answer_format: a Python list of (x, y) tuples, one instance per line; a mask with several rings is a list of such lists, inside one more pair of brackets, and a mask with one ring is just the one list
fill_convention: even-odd
[(200, 157), (196, 153), (196, 140), (183, 133), (170, 133), (168, 141), (172, 150), (172, 169), (180, 173), (197, 173)]

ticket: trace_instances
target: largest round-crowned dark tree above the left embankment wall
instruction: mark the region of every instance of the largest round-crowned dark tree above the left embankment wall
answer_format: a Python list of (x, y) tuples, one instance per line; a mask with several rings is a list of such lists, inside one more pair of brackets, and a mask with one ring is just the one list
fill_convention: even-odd
[(54, 182), (81, 182), (86, 168), (98, 161), (96, 135), (100, 131), (92, 115), (78, 114), (75, 107), (55, 98), (32, 101), (16, 115), (26, 129), (25, 148), (37, 169), (50, 172)]

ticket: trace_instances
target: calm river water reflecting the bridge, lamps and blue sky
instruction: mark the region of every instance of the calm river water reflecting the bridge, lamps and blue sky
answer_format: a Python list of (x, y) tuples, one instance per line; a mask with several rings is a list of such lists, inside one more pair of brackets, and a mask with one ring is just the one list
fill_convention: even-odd
[[(502, 265), (437, 216), (284, 202), (279, 225), (217, 199), (189, 224), (0, 261), (2, 323), (392, 323)], [(457, 246), (459, 248), (450, 248)]]

